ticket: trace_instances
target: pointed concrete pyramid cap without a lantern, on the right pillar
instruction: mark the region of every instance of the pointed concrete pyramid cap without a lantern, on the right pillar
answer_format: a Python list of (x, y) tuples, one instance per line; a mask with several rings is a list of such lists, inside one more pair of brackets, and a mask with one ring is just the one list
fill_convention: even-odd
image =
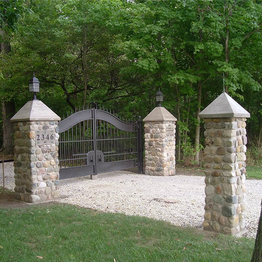
[(210, 105), (200, 112), (199, 117), (250, 117), (249, 112), (231, 96), (223, 92)]

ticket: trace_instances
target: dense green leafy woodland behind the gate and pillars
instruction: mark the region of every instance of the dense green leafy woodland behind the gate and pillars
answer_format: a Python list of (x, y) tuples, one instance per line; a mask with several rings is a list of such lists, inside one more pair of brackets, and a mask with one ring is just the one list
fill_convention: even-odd
[[(262, 163), (262, 1), (0, 1), (0, 145), (37, 98), (63, 117), (96, 101), (125, 118), (162, 106), (176, 118), (176, 160), (199, 164), (199, 112), (223, 91), (250, 112), (248, 164)], [(200, 154), (199, 154), (200, 153)], [(199, 158), (200, 155), (200, 158)]]

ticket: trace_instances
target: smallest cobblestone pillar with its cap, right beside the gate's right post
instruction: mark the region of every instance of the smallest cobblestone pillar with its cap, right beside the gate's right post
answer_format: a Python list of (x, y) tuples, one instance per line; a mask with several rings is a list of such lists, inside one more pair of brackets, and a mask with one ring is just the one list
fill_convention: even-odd
[(155, 107), (143, 121), (145, 122), (145, 174), (175, 175), (175, 121), (177, 119), (164, 107)]

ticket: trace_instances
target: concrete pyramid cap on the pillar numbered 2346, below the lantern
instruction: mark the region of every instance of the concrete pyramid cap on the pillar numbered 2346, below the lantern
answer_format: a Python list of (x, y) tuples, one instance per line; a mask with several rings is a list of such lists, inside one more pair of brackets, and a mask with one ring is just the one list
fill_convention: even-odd
[(56, 121), (61, 118), (40, 100), (28, 101), (11, 119), (18, 121)]

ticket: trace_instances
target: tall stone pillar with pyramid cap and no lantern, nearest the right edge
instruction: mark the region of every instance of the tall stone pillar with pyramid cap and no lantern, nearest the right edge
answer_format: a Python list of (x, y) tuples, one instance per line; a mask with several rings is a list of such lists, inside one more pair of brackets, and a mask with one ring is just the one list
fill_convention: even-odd
[(206, 130), (204, 230), (241, 235), (245, 232), (245, 121), (250, 115), (222, 93), (200, 117)]

